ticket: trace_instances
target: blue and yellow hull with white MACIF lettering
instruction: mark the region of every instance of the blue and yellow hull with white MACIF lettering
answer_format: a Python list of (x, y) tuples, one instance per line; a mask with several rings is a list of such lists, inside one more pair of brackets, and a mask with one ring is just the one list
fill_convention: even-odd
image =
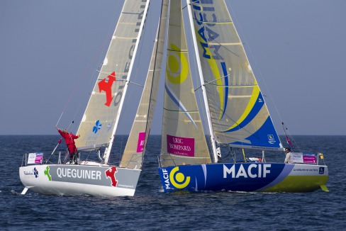
[(161, 167), (164, 191), (309, 192), (327, 190), (328, 168), (307, 164), (217, 163)]

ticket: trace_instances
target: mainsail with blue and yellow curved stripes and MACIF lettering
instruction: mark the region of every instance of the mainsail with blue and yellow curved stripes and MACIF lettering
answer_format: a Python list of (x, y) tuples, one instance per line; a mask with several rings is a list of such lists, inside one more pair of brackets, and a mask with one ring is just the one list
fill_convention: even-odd
[(225, 1), (191, 1), (203, 84), (216, 141), (282, 148)]

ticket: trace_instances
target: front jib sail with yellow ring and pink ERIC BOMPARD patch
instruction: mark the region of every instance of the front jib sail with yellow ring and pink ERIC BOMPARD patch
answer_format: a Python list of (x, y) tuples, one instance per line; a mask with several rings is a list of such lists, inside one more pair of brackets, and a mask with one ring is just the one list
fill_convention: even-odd
[(161, 166), (210, 163), (191, 79), (180, 0), (171, 1), (168, 24)]

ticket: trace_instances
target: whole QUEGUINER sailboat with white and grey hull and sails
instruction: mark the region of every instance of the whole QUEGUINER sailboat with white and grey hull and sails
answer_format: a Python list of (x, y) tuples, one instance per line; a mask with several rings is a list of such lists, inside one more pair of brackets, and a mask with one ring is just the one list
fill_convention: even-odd
[[(163, 44), (160, 39), (155, 42), (152, 55), (155, 59), (151, 60), (151, 69), (147, 73), (138, 111), (120, 164), (111, 165), (109, 157), (149, 2), (124, 2), (106, 58), (77, 131), (80, 135), (76, 140), (80, 156), (78, 164), (42, 164), (42, 154), (30, 153), (24, 166), (22, 164), (19, 168), (19, 175), (25, 186), (22, 194), (30, 189), (35, 193), (66, 196), (134, 195), (157, 97), (156, 79), (162, 62), (162, 55), (157, 54), (157, 47)], [(104, 151), (103, 157), (101, 150)], [(98, 153), (100, 162), (82, 161), (83, 152)]]

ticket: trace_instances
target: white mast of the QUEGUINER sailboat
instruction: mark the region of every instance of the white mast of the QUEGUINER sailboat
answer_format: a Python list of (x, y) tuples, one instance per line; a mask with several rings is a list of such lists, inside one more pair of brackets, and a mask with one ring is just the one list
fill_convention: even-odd
[[(143, 26), (144, 26), (144, 23), (145, 23), (145, 18), (147, 17), (147, 10), (149, 9), (149, 4), (150, 4), (150, 0), (147, 0), (147, 2), (145, 4), (145, 10), (144, 10), (144, 13), (143, 13), (142, 22), (140, 23), (140, 30), (139, 30), (138, 36), (136, 38), (135, 49), (133, 50), (133, 57), (135, 57), (135, 55), (137, 53), (137, 50), (138, 50), (138, 43), (140, 43), (140, 36), (142, 35)], [(115, 123), (114, 128), (113, 128), (111, 140), (110, 140), (110, 142), (108, 144), (108, 147), (106, 147), (106, 150), (104, 151), (104, 163), (105, 164), (108, 164), (109, 155), (111, 154), (111, 149), (112, 149), (114, 138), (115, 138), (115, 135), (116, 135), (116, 128), (118, 127), (119, 118), (121, 116), (121, 111), (122, 111), (122, 108), (123, 108), (123, 102), (125, 100), (125, 94), (126, 94), (126, 91), (128, 89), (128, 83), (129, 83), (131, 72), (132, 72), (132, 69), (133, 69), (133, 62), (134, 62), (134, 60), (135, 59), (132, 59), (131, 62), (130, 62), (130, 67), (129, 67), (129, 70), (128, 70), (128, 75), (127, 75), (126, 80), (125, 80), (125, 87), (124, 87), (124, 90), (123, 90), (123, 96), (121, 97), (121, 102), (119, 104), (119, 110), (118, 110), (118, 112), (116, 114), (116, 120), (115, 120), (116, 123)]]

